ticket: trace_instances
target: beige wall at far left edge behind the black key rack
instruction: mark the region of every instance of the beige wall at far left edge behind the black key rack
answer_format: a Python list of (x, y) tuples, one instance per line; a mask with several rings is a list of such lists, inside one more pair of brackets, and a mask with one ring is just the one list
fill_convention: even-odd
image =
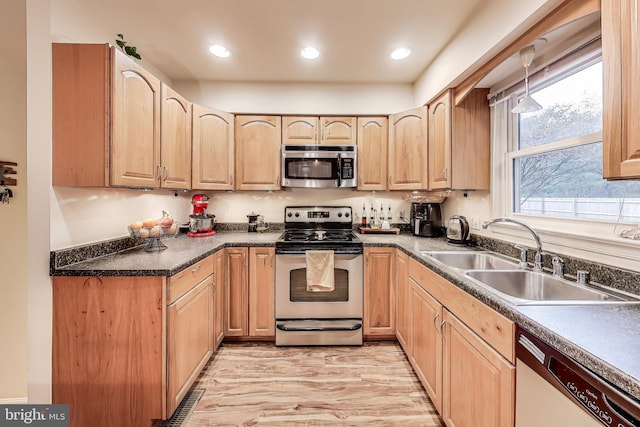
[[(0, 204), (0, 404), (27, 396), (27, 57), (26, 6), (3, 2), (0, 15), (0, 160), (18, 163), (13, 199)], [(46, 239), (45, 239), (46, 240)]]

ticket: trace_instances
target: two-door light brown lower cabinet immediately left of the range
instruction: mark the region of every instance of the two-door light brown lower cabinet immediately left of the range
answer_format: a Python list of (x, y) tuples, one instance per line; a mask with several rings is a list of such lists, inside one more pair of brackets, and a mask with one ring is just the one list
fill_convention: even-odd
[(275, 248), (227, 248), (228, 337), (275, 339)]

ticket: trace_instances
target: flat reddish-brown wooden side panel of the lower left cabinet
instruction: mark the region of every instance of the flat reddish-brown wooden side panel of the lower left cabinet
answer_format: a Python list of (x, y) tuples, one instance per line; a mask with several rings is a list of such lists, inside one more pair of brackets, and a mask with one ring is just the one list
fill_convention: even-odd
[(72, 426), (150, 425), (165, 415), (162, 277), (53, 277), (52, 403)]

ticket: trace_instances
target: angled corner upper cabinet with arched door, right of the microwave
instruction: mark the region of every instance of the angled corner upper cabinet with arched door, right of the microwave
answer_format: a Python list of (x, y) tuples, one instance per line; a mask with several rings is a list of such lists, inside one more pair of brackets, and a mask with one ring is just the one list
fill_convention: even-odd
[(427, 175), (427, 107), (389, 116), (389, 190), (422, 190)]

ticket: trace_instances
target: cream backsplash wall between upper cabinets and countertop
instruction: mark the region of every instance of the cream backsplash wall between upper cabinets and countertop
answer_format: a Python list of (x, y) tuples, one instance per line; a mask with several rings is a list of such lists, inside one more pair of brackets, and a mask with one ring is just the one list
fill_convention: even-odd
[[(127, 226), (144, 218), (158, 218), (166, 210), (180, 223), (191, 214), (191, 192), (169, 190), (132, 190), (120, 188), (54, 187), (51, 191), (51, 250), (100, 242), (127, 235)], [(411, 203), (405, 192), (369, 192), (356, 190), (290, 189), (283, 191), (214, 192), (208, 213), (217, 222), (246, 223), (247, 214), (255, 212), (267, 222), (283, 222), (285, 206), (346, 205), (353, 208), (354, 222), (360, 223), (363, 203), (367, 212), (371, 203), (386, 211), (391, 206), (393, 222), (408, 217)], [(446, 204), (444, 205), (446, 206)], [(443, 209), (443, 220), (446, 221)]]

